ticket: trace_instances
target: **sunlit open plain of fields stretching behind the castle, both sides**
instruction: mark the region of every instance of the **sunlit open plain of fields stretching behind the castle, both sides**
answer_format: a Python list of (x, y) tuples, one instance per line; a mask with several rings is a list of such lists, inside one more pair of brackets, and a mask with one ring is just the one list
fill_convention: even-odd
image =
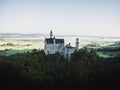
[[(88, 37), (88, 36), (57, 36), (57, 38), (64, 38), (65, 45), (71, 43), (75, 47), (76, 37), (79, 38), (79, 48), (88, 47), (97, 50), (97, 54), (101, 57), (120, 56), (120, 38), (116, 37)], [(44, 49), (44, 37), (14, 37), (0, 38), (0, 54), (11, 55), (15, 53), (23, 53), (32, 51), (33, 49)], [(101, 50), (99, 50), (101, 49)], [(108, 49), (108, 51), (105, 51)], [(113, 51), (112, 51), (112, 50)], [(111, 50), (111, 51), (110, 51)]]

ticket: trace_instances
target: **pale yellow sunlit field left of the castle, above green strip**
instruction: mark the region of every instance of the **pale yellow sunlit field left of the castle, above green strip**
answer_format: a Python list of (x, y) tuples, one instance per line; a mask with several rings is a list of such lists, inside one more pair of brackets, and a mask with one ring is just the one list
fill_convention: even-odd
[(33, 38), (7, 38), (0, 39), (0, 50), (5, 49), (43, 49), (44, 43), (43, 39), (33, 39)]

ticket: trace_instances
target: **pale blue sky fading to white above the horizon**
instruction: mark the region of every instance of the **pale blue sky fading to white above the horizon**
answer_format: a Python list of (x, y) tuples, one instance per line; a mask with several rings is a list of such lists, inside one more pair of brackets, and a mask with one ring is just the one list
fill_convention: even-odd
[(0, 33), (119, 36), (120, 0), (0, 0)]

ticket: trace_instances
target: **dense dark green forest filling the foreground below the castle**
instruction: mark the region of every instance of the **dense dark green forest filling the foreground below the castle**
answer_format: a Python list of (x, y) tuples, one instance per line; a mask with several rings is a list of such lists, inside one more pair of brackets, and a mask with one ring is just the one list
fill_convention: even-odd
[(43, 50), (0, 56), (0, 87), (9, 89), (119, 88), (120, 57), (100, 58), (95, 50), (75, 51), (71, 59)]

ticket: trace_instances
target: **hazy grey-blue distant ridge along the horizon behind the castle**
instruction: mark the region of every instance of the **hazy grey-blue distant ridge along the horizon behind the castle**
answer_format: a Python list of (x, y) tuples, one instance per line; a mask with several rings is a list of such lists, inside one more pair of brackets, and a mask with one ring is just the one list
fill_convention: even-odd
[[(104, 37), (104, 36), (88, 36), (88, 35), (55, 35), (56, 37), (94, 37), (94, 38), (120, 38), (120, 37)], [(49, 34), (43, 33), (0, 33), (0, 38), (40, 38), (49, 37)]]

